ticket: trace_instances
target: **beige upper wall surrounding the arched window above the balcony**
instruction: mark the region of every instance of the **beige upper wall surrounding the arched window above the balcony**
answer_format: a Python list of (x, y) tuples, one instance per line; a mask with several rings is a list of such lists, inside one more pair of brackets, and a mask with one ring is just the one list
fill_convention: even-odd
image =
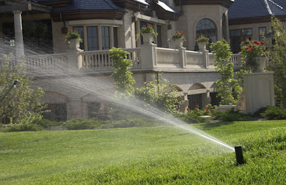
[[(180, 7), (177, 7), (179, 10)], [(196, 25), (202, 19), (210, 19), (217, 27), (217, 40), (222, 40), (222, 15), (228, 15), (228, 10), (219, 5), (186, 5), (183, 6), (184, 15), (179, 17), (175, 22), (172, 31), (185, 31), (186, 43), (184, 46), (187, 50), (194, 50), (196, 43)], [(228, 30), (228, 29), (227, 29)], [(228, 32), (228, 31), (227, 31)], [(171, 36), (170, 36), (171, 38)]]

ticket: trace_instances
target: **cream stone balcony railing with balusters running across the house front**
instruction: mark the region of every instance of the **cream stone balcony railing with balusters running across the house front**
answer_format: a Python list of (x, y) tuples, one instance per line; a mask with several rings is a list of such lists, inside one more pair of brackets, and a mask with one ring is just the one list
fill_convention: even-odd
[[(132, 71), (214, 71), (214, 54), (193, 52), (185, 48), (168, 49), (156, 45), (123, 49), (132, 60)], [(233, 68), (240, 68), (240, 54), (233, 54), (229, 62)], [(62, 66), (73, 66), (88, 73), (112, 73), (113, 61), (109, 50), (69, 51), (61, 54), (41, 54), (25, 57), (27, 71), (37, 68), (49, 70)]]

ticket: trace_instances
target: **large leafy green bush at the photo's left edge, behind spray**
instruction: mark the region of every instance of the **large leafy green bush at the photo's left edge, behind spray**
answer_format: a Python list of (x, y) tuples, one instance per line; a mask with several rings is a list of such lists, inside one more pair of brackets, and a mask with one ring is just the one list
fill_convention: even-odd
[[(0, 103), (0, 121), (2, 124), (28, 124), (34, 119), (41, 119), (45, 105), (40, 102), (44, 92), (40, 87), (32, 89), (32, 77), (27, 77), (22, 64), (11, 66), (11, 56), (5, 56), (1, 64), (0, 87), (19, 80), (16, 87)], [(0, 93), (0, 97), (4, 95)]]

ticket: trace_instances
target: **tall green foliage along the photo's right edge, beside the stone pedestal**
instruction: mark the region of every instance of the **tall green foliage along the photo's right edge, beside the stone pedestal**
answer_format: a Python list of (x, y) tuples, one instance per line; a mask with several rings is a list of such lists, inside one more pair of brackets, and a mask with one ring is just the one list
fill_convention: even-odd
[(283, 108), (286, 108), (286, 32), (281, 22), (273, 17), (273, 38), (275, 45), (268, 47), (270, 61), (267, 70), (274, 71), (275, 101)]

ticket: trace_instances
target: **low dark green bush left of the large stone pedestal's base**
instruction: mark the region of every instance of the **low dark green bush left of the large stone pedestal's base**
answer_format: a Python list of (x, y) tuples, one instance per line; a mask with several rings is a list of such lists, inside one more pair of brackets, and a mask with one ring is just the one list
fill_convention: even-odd
[(221, 120), (221, 121), (247, 121), (252, 116), (250, 114), (243, 114), (238, 110), (226, 110), (225, 112), (217, 111), (214, 113), (214, 119)]

